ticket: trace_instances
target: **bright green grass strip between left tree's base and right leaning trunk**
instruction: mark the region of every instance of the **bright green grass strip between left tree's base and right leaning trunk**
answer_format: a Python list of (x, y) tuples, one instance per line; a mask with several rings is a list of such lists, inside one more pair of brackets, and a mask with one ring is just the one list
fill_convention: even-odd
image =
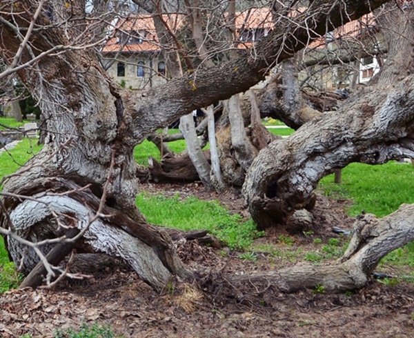
[(209, 230), (230, 248), (247, 248), (253, 239), (262, 235), (253, 221), (243, 221), (240, 215), (230, 214), (218, 201), (141, 193), (137, 206), (150, 223), (181, 230)]

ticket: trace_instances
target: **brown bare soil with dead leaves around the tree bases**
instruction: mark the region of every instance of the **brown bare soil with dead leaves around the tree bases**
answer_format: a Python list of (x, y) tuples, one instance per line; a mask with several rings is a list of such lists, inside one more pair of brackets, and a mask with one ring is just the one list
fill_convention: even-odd
[[(239, 195), (219, 195), (194, 183), (148, 185), (154, 193), (219, 199), (231, 210), (246, 212)], [(351, 228), (346, 201), (320, 197), (313, 235), (292, 236), (297, 247), (313, 248), (313, 239), (335, 237), (332, 226)], [(279, 241), (268, 232), (257, 245)], [(12, 290), (0, 297), (0, 337), (55, 337), (57, 329), (82, 323), (109, 324), (122, 337), (413, 337), (414, 286), (378, 281), (362, 290), (326, 295), (302, 290), (286, 295), (276, 288), (236, 289), (226, 276), (294, 264), (277, 255), (255, 252), (255, 260), (240, 252), (181, 243), (179, 255), (200, 272), (197, 285), (171, 284), (159, 295), (135, 273), (106, 267), (88, 281), (66, 281), (52, 290)]]

